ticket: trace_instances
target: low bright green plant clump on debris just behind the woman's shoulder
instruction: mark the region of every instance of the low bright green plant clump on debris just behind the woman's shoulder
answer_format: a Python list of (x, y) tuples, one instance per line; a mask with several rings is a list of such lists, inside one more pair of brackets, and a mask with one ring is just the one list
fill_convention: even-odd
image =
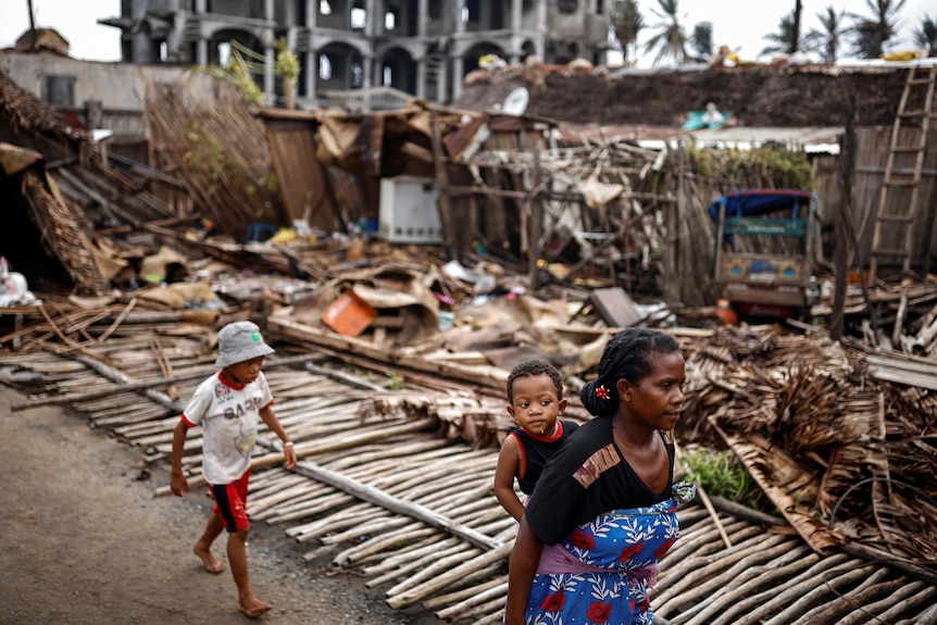
[(690, 479), (707, 493), (761, 510), (766, 498), (732, 451), (700, 447), (686, 452), (682, 462)]

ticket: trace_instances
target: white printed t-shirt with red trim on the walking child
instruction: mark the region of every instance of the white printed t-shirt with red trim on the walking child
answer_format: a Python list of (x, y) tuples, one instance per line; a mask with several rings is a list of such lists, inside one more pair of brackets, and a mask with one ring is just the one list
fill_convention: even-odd
[(243, 387), (212, 375), (196, 388), (183, 412), (189, 427), (202, 424), (202, 474), (209, 484), (230, 484), (250, 467), (260, 411), (273, 403), (263, 373)]

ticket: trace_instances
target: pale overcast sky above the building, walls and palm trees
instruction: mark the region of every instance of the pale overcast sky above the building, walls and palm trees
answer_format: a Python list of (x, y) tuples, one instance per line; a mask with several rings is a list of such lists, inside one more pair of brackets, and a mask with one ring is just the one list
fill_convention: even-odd
[[(610, 3), (608, 0), (607, 4)], [(742, 59), (757, 59), (770, 45), (764, 36), (778, 32), (780, 18), (789, 14), (794, 5), (795, 0), (680, 0), (680, 17), (687, 33), (691, 33), (699, 22), (711, 22), (716, 46), (726, 45), (738, 51)], [(829, 5), (847, 13), (873, 14), (866, 0), (803, 0), (803, 30), (819, 28), (816, 15)], [(640, 0), (639, 7), (649, 26), (658, 22), (651, 13), (651, 8), (658, 7), (655, 0)], [(120, 60), (120, 30), (96, 22), (120, 15), (120, 0), (33, 0), (33, 8), (36, 25), (59, 30), (72, 45), (73, 57), (95, 61)], [(913, 48), (913, 32), (920, 28), (925, 15), (937, 20), (937, 2), (907, 0), (900, 13), (900, 40), (895, 41), (891, 48)], [(27, 0), (0, 0), (0, 48), (12, 46), (28, 27)], [(639, 36), (639, 45), (641, 40)]]

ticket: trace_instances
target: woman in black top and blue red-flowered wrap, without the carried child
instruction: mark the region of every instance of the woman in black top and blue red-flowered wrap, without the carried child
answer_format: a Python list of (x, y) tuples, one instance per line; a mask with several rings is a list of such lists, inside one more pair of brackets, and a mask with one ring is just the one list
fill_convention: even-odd
[(673, 483), (685, 379), (666, 334), (629, 328), (605, 346), (580, 391), (596, 418), (547, 462), (521, 521), (507, 625), (651, 623), (658, 562), (677, 539), (677, 507), (695, 493)]

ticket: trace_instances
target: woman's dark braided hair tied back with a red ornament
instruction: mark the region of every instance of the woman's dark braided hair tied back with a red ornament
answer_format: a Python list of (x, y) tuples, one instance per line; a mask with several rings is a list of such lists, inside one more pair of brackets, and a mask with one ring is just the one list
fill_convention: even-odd
[(652, 353), (671, 353), (680, 350), (677, 341), (662, 332), (647, 328), (628, 328), (616, 334), (605, 345), (596, 379), (579, 390), (579, 399), (590, 414), (608, 416), (619, 408), (615, 385), (622, 378), (639, 384), (651, 373)]

